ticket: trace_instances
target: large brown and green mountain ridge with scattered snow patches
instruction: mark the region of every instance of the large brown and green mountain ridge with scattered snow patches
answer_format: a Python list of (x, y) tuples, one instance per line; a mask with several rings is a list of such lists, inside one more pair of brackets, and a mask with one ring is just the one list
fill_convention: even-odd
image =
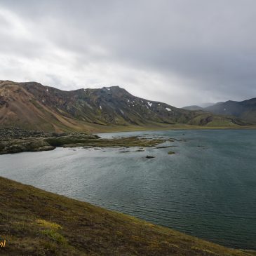
[[(0, 126), (43, 131), (93, 131), (105, 126), (239, 126), (241, 120), (177, 109), (135, 97), (118, 86), (64, 91), (40, 83), (0, 81)], [(100, 128), (99, 128), (100, 129)], [(97, 129), (96, 129), (97, 130)]]

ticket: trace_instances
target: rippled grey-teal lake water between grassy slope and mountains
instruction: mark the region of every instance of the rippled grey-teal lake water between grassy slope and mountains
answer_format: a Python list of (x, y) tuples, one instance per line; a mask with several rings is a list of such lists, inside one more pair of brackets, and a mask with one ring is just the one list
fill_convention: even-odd
[[(0, 175), (232, 248), (256, 249), (256, 130), (101, 134), (130, 135), (175, 138), (163, 145), (177, 147), (8, 154), (0, 156)], [(121, 153), (127, 150), (133, 152)]]

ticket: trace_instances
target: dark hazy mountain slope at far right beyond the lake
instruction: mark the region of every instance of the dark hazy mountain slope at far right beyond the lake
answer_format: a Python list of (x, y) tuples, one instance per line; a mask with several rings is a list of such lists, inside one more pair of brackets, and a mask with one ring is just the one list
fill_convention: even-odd
[(256, 97), (241, 102), (227, 101), (220, 102), (204, 110), (214, 114), (232, 115), (241, 119), (256, 123)]

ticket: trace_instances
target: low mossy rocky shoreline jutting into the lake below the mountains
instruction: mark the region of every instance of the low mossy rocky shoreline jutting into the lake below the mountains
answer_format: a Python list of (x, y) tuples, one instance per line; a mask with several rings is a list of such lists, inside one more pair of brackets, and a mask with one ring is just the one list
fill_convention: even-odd
[(136, 136), (102, 139), (88, 133), (43, 133), (19, 128), (1, 128), (0, 137), (0, 154), (47, 151), (56, 147), (155, 147), (166, 141)]

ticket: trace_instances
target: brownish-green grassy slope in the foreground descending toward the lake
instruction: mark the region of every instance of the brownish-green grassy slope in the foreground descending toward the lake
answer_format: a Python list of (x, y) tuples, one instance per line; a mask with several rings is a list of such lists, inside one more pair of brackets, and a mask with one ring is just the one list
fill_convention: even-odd
[(250, 255), (3, 177), (0, 187), (0, 255)]

